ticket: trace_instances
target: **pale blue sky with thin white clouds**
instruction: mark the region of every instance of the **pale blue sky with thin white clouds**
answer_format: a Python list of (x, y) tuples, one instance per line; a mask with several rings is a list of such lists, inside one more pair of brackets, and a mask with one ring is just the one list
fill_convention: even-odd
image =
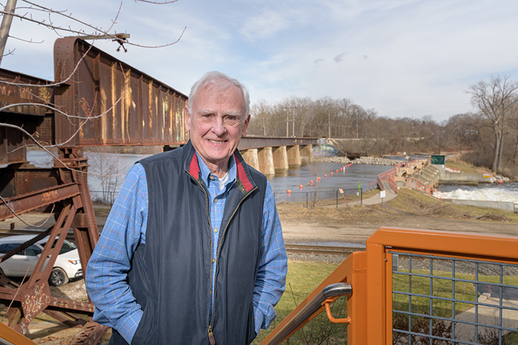
[[(518, 80), (515, 0), (39, 3), (91, 26), (111, 27), (111, 33), (128, 33), (142, 46), (176, 41), (185, 28), (178, 43), (164, 48), (116, 52), (110, 40), (94, 45), (186, 95), (204, 72), (220, 70), (247, 86), (251, 103), (332, 97), (383, 117), (430, 115), (441, 122), (473, 110), (466, 91), (477, 81), (497, 75)], [(49, 21), (23, 0), (18, 6), (19, 14)], [(50, 20), (93, 33), (63, 16)], [(57, 32), (15, 19), (10, 36), (6, 52), (12, 54), (3, 57), (1, 68), (53, 80)]]

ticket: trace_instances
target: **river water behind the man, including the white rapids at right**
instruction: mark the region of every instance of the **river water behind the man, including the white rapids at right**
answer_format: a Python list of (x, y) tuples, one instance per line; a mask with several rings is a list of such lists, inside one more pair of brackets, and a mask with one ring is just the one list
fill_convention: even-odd
[[(95, 159), (96, 155), (102, 155), (101, 161), (115, 161), (119, 177), (117, 181), (116, 191), (120, 188), (124, 175), (129, 168), (147, 155), (128, 155), (97, 152), (85, 152), (86, 157), (90, 158), (89, 163), (99, 161)], [(97, 157), (98, 158), (98, 157)], [(43, 151), (28, 151), (27, 159), (35, 166), (48, 168), (52, 166), (52, 157)], [(340, 171), (341, 168), (341, 171)], [(303, 201), (311, 199), (312, 195), (317, 191), (318, 197), (322, 199), (334, 199), (337, 190), (344, 190), (346, 195), (352, 195), (358, 191), (358, 186), (362, 191), (368, 190), (370, 184), (376, 181), (376, 176), (392, 166), (374, 166), (367, 164), (352, 164), (344, 168), (343, 164), (337, 163), (317, 163), (299, 168), (290, 168), (289, 170), (280, 171), (275, 175), (268, 177), (277, 201)], [(95, 170), (94, 166), (90, 166), (89, 171)], [(338, 170), (338, 172), (336, 172)], [(332, 175), (331, 175), (332, 173)], [(115, 174), (113, 174), (115, 175)], [(327, 175), (327, 177), (325, 177)], [(317, 186), (317, 177), (320, 181)], [(313, 180), (311, 186), (310, 181)], [(300, 188), (300, 185), (303, 188)], [(100, 178), (95, 175), (88, 176), (88, 186), (93, 198), (102, 194)], [(458, 186), (458, 185), (441, 185), (441, 192), (445, 193), (452, 199), (470, 199), (470, 200), (490, 200), (490, 201), (513, 201), (518, 203), (518, 182), (510, 182), (506, 184), (480, 184), (479, 186)], [(291, 193), (287, 193), (291, 190)]]

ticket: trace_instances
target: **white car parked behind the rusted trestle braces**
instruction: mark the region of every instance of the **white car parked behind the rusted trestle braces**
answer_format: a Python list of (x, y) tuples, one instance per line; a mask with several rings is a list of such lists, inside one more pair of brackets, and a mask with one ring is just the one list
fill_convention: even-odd
[[(15, 235), (1, 238), (0, 257), (35, 236), (36, 235)], [(6, 259), (6, 261), (0, 262), (0, 274), (3, 273), (3, 275), (7, 277), (23, 277), (26, 274), (30, 276), (47, 241), (48, 236), (40, 239), (25, 250), (12, 255), (12, 257)], [(46, 267), (46, 263), (44, 267)], [(80, 277), (83, 277), (83, 270), (81, 269), (81, 262), (79, 261), (79, 252), (74, 244), (65, 240), (59, 251), (59, 255), (57, 255), (54, 268), (52, 268), (52, 272), (48, 278), (48, 283), (53, 286), (61, 286), (68, 283), (70, 279)]]

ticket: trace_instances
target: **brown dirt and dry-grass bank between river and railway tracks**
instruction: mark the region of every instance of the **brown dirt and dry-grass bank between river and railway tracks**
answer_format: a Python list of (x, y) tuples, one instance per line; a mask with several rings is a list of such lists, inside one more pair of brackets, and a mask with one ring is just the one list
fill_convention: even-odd
[(365, 244), (385, 226), (518, 236), (518, 214), (443, 203), (406, 189), (383, 205), (306, 208), (303, 203), (283, 202), (278, 211), (287, 243)]

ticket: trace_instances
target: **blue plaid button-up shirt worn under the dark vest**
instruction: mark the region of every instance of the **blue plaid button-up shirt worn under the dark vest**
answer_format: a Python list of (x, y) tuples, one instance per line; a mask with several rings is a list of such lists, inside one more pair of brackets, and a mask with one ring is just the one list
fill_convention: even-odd
[[(210, 173), (200, 157), (198, 164), (209, 191), (210, 221), (213, 230), (212, 253), (215, 259), (224, 204), (229, 189), (236, 181), (236, 164), (231, 157), (229, 179), (221, 191), (218, 177)], [(126, 279), (137, 245), (139, 242), (146, 242), (147, 216), (146, 174), (141, 164), (135, 164), (126, 175), (106, 219), (85, 275), (88, 295), (95, 304), (94, 320), (115, 328), (129, 344), (142, 318), (142, 308), (135, 301)], [(252, 300), (257, 334), (260, 328), (268, 328), (276, 317), (274, 306), (285, 289), (287, 273), (287, 255), (282, 229), (269, 182), (262, 215), (261, 250), (262, 259)], [(212, 279), (214, 275), (215, 263), (211, 267)]]

